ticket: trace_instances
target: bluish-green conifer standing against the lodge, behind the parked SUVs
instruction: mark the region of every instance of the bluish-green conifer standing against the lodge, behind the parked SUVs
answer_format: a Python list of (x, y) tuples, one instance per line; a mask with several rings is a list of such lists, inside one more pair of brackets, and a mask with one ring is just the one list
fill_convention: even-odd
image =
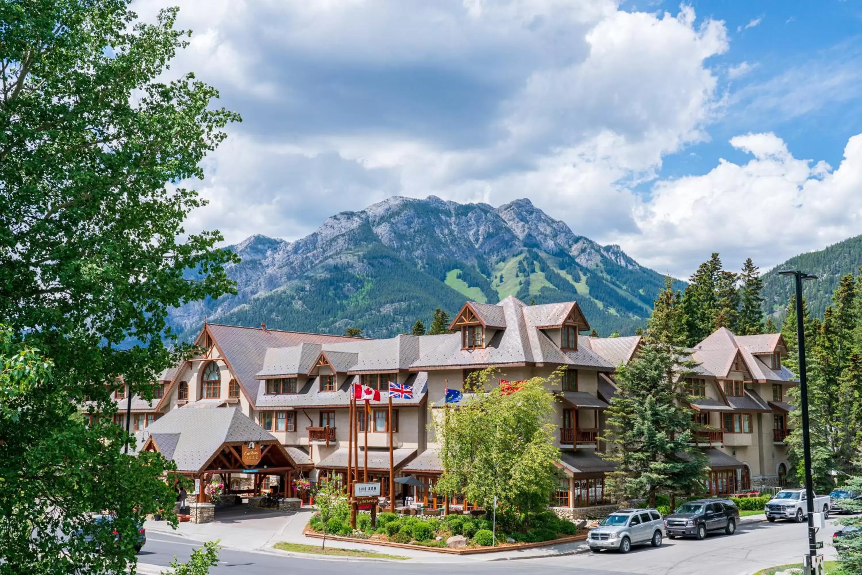
[[(665, 340), (670, 336), (663, 334)], [(606, 411), (602, 457), (616, 464), (607, 475), (607, 488), (629, 499), (648, 497), (655, 507), (659, 493), (703, 490), (706, 457), (693, 441), (693, 417), (686, 407), (678, 377), (690, 366), (670, 345), (647, 336), (638, 356), (620, 370), (619, 393)]]

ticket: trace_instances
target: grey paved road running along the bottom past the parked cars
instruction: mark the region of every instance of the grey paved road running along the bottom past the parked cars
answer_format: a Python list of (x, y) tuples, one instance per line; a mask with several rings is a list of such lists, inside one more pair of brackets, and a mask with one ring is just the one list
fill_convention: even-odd
[[(831, 524), (832, 522), (830, 522)], [(827, 528), (831, 541), (834, 525)], [(167, 566), (174, 554), (187, 559), (197, 543), (167, 534), (151, 534), (141, 551), (141, 563)], [(503, 573), (512, 575), (742, 575), (763, 567), (798, 561), (806, 548), (805, 524), (778, 522), (744, 522), (734, 535), (710, 535), (705, 541), (665, 541), (659, 549), (635, 547), (632, 553), (586, 553), (549, 559), (472, 562), (464, 564), (422, 564), (410, 562), (344, 563), (332, 559), (300, 559), (268, 553), (250, 553), (222, 549), (221, 563), (213, 575), (272, 575), (273, 572), (315, 572), (316, 575), (343, 575), (344, 572), (364, 575), (395, 573), (434, 573), (439, 575), (481, 575)], [(384, 552), (387, 550), (384, 550)], [(833, 553), (828, 542), (825, 548)], [(391, 553), (397, 553), (391, 550)]]

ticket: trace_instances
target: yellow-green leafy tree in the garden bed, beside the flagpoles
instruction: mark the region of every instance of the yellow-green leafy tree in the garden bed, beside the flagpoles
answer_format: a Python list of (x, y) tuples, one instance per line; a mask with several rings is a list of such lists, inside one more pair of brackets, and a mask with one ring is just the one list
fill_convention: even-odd
[(553, 378), (532, 378), (506, 393), (484, 391), (491, 370), (474, 374), (457, 408), (434, 418), (444, 472), (436, 489), (463, 494), (490, 509), (497, 496), (503, 508), (547, 509), (559, 484), (559, 449), (554, 447)]

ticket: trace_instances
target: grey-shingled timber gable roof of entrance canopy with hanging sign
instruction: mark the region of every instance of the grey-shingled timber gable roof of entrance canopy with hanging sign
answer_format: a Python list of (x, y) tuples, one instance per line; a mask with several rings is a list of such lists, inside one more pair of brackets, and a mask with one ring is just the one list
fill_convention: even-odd
[(184, 475), (280, 474), (297, 463), (239, 408), (173, 409), (137, 434), (140, 451), (158, 451)]

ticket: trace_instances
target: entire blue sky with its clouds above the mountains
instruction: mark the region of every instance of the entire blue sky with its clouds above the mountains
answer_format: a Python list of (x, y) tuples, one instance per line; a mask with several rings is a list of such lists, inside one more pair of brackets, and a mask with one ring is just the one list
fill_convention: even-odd
[(172, 73), (243, 116), (190, 230), (295, 240), (393, 195), (528, 197), (678, 277), (862, 233), (859, 3), (178, 4)]

